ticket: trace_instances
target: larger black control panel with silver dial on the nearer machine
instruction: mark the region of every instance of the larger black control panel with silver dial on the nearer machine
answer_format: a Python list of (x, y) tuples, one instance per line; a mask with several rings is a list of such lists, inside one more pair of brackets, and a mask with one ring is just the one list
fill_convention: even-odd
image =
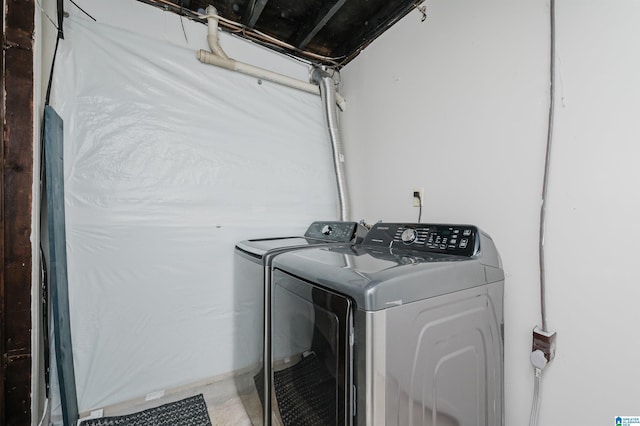
[(471, 257), (478, 253), (480, 240), (473, 225), (376, 223), (363, 245)]

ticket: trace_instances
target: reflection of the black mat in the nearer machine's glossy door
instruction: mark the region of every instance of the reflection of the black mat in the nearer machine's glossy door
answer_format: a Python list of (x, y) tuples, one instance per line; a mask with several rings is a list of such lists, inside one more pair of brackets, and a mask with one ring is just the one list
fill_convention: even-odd
[[(263, 400), (262, 371), (254, 377)], [(336, 424), (336, 381), (315, 354), (274, 373), (278, 409), (285, 426)]]

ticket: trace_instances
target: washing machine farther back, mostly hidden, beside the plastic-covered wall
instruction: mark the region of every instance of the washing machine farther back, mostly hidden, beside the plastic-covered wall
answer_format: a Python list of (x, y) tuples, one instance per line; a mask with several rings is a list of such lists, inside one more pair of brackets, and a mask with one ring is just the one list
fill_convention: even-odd
[[(358, 244), (363, 241), (366, 233), (367, 229), (357, 222), (316, 221), (309, 225), (302, 236), (251, 239), (236, 244), (233, 374), (236, 392), (254, 425), (269, 422), (265, 421), (269, 412), (263, 407), (272, 405), (271, 394), (265, 392), (271, 386), (270, 383), (265, 383), (268, 378), (265, 378), (263, 369), (264, 348), (270, 344), (267, 330), (271, 323), (271, 305), (268, 303), (272, 288), (271, 263), (277, 255), (292, 250)], [(286, 308), (282, 309), (281, 314), (290, 316)]]

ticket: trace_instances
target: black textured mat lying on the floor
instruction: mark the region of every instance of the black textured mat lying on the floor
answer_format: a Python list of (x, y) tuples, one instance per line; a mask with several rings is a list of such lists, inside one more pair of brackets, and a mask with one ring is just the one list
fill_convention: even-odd
[(202, 394), (126, 416), (87, 419), (80, 426), (211, 426)]

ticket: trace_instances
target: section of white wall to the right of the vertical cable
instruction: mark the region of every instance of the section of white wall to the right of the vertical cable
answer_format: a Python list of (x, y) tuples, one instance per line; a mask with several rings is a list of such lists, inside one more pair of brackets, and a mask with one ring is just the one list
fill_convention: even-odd
[(585, 424), (609, 424), (640, 412), (640, 3), (560, 1), (557, 12), (548, 263), (559, 352), (544, 418), (590, 411)]

